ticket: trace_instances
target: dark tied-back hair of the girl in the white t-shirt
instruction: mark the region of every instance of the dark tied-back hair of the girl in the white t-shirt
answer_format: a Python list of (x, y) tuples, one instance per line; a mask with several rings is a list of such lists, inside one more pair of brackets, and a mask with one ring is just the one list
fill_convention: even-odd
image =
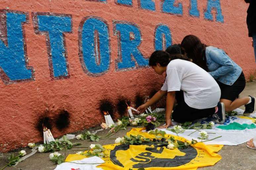
[(149, 58), (149, 66), (156, 66), (156, 63), (159, 63), (162, 67), (165, 67), (170, 61), (175, 59), (189, 61), (189, 58), (182, 54), (169, 54), (168, 52), (158, 50), (151, 54)]

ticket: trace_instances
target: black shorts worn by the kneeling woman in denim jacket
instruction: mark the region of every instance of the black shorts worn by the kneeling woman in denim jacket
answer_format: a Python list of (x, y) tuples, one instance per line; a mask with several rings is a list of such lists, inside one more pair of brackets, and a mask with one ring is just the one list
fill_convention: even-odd
[(234, 101), (238, 98), (239, 94), (245, 88), (245, 77), (243, 71), (241, 72), (240, 76), (237, 78), (234, 84), (231, 86), (223, 84), (217, 80), (217, 83), (221, 89), (221, 99), (227, 99)]

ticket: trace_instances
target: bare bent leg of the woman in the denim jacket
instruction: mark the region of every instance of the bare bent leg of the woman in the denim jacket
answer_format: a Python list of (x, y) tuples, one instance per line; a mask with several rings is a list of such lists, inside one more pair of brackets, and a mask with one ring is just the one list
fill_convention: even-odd
[(225, 110), (227, 112), (232, 111), (242, 105), (245, 105), (249, 102), (250, 97), (244, 97), (244, 98), (239, 98), (235, 99), (233, 102), (231, 100), (227, 99), (220, 99), (220, 102), (223, 102), (225, 105)]

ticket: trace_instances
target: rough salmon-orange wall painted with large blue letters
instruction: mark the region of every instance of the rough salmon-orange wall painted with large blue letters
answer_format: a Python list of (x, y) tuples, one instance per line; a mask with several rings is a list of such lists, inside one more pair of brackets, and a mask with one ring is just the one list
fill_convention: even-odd
[[(245, 75), (255, 69), (242, 0), (1, 0), (0, 151), (118, 117), (161, 87), (155, 49), (194, 34), (223, 48)], [(103, 101), (102, 101), (103, 100)], [(121, 112), (121, 111), (120, 111)]]

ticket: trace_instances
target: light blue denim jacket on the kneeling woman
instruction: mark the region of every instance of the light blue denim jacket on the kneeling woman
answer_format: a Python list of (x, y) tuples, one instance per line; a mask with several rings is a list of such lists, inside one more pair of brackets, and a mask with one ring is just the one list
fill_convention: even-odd
[(206, 65), (214, 79), (232, 85), (240, 76), (242, 69), (222, 49), (208, 46), (205, 49)]

